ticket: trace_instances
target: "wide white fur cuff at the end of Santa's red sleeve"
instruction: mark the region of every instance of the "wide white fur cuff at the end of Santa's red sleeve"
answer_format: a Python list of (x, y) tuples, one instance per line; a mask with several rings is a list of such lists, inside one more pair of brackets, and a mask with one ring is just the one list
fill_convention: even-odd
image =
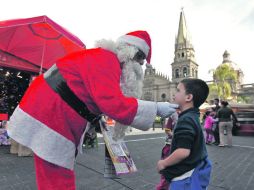
[(153, 126), (154, 119), (157, 113), (157, 105), (155, 102), (138, 101), (138, 111), (131, 124), (132, 127), (140, 130), (148, 130)]

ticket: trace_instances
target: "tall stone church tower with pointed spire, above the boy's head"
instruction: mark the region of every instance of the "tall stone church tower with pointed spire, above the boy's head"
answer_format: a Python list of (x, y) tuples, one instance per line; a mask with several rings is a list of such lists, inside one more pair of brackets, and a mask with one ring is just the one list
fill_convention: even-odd
[(198, 78), (198, 64), (191, 36), (187, 30), (183, 9), (180, 13), (178, 34), (175, 39), (175, 56), (172, 66), (172, 82), (178, 83), (184, 78)]

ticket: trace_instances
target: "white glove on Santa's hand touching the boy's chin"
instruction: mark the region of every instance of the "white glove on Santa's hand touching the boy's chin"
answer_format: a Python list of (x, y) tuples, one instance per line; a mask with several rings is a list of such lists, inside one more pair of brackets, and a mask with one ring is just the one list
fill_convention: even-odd
[(166, 118), (176, 112), (177, 104), (170, 104), (168, 102), (157, 102), (157, 115)]

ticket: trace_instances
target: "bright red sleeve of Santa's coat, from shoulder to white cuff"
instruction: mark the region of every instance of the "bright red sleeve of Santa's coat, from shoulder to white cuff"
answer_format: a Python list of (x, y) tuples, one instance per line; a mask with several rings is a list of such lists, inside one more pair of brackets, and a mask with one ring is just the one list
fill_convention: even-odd
[(112, 119), (129, 125), (138, 109), (135, 98), (125, 97), (120, 88), (120, 63), (117, 57), (106, 50), (87, 52), (81, 69), (81, 77), (93, 103)]

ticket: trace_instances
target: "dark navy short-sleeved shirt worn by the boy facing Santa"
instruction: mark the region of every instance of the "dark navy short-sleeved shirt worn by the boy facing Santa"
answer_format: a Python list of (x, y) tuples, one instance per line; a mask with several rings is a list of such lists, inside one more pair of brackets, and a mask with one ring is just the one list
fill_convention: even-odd
[(190, 149), (190, 155), (178, 164), (160, 171), (168, 181), (194, 169), (207, 157), (199, 115), (197, 108), (190, 108), (179, 115), (174, 129), (171, 153), (178, 148), (185, 148)]

